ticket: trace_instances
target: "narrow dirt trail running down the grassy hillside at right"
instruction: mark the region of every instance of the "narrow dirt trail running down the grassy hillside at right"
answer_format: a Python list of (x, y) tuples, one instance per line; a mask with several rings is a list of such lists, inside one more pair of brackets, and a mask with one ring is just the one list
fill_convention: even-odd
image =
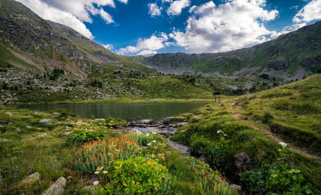
[(272, 140), (275, 140), (276, 142), (284, 142), (284, 143), (287, 143), (288, 145), (288, 148), (290, 150), (294, 150), (302, 155), (305, 155), (305, 156), (309, 156), (309, 157), (313, 157), (315, 159), (317, 159), (320, 163), (321, 163), (321, 157), (320, 156), (315, 156), (314, 154), (311, 154), (309, 152), (307, 152), (305, 149), (302, 149), (302, 148), (299, 148), (299, 147), (296, 147), (292, 144), (289, 144), (288, 142), (282, 140), (280, 137), (277, 137), (275, 136), (272, 132), (270, 131), (267, 131), (266, 129), (264, 129), (262, 126), (254, 123), (254, 122), (251, 122), (249, 120), (244, 120), (241, 115), (240, 115), (240, 112), (237, 108), (237, 106), (234, 105), (234, 103), (231, 105), (232, 106), (232, 113), (233, 113), (233, 117), (236, 119), (236, 120), (240, 120), (242, 121), (243, 123), (251, 126), (253, 129), (255, 129), (256, 131), (258, 132), (261, 132), (263, 133), (266, 137), (272, 139)]

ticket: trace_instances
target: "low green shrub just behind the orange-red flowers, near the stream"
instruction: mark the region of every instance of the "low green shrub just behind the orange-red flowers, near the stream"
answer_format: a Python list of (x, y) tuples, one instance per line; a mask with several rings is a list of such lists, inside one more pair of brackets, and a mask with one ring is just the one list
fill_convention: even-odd
[(79, 143), (83, 144), (89, 141), (104, 139), (105, 134), (95, 132), (94, 130), (87, 130), (85, 128), (78, 129), (74, 134), (72, 134), (68, 139), (67, 143)]

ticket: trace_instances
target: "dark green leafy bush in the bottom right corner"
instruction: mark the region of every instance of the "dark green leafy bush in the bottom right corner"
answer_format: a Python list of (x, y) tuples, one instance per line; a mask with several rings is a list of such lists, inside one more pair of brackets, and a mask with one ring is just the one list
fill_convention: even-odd
[(247, 193), (267, 195), (313, 194), (311, 185), (303, 185), (300, 170), (284, 165), (266, 165), (261, 169), (240, 173)]

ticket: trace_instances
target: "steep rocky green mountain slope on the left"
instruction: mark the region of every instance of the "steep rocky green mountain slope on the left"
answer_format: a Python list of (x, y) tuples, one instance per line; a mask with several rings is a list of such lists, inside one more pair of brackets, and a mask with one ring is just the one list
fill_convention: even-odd
[(2, 58), (2, 67), (57, 67), (82, 78), (120, 68), (156, 72), (110, 52), (65, 25), (43, 20), (15, 0), (0, 0), (0, 44), (7, 49), (1, 53), (14, 56)]

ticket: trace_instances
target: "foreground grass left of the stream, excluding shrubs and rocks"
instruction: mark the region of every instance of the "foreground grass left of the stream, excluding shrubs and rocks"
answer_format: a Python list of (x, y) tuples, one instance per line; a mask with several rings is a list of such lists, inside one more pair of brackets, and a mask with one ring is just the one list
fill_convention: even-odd
[[(57, 112), (57, 111), (55, 111)], [(84, 174), (72, 167), (73, 155), (79, 149), (80, 144), (68, 142), (68, 137), (61, 134), (68, 131), (76, 131), (78, 126), (93, 129), (95, 132), (105, 135), (105, 139), (117, 137), (121, 130), (112, 130), (107, 123), (67, 116), (53, 118), (54, 114), (33, 112), (29, 110), (16, 110), (0, 105), (0, 119), (12, 122), (11, 125), (2, 125), (0, 137), (11, 141), (0, 141), (0, 194), (34, 195), (43, 193), (58, 177), (64, 176), (71, 179), (67, 181), (65, 194), (85, 195), (81, 190), (86, 185), (91, 185), (91, 174)], [(39, 125), (39, 120), (51, 118), (51, 125)], [(108, 123), (123, 124), (120, 119), (108, 118)], [(81, 124), (80, 124), (81, 123)], [(70, 129), (66, 129), (66, 128)], [(15, 132), (19, 128), (21, 132)], [(38, 137), (40, 133), (47, 136)], [(165, 156), (160, 163), (168, 167), (172, 178), (171, 193), (174, 195), (200, 195), (213, 194), (204, 186), (204, 173), (211, 173), (220, 187), (221, 192), (232, 195), (228, 184), (221, 178), (218, 172), (211, 170), (207, 164), (194, 158), (182, 156), (168, 146), (167, 140), (155, 136), (152, 139), (164, 141), (165, 148), (158, 148), (156, 152), (141, 153), (141, 155)], [(151, 139), (151, 140), (152, 140)], [(197, 166), (196, 166), (197, 165)], [(197, 169), (196, 169), (196, 168)], [(187, 171), (188, 170), (188, 171)], [(19, 187), (19, 182), (26, 176), (38, 172), (40, 180), (31, 187)], [(202, 175), (203, 174), (203, 175)], [(84, 182), (79, 182), (84, 179)], [(218, 182), (219, 181), (219, 182)]]

